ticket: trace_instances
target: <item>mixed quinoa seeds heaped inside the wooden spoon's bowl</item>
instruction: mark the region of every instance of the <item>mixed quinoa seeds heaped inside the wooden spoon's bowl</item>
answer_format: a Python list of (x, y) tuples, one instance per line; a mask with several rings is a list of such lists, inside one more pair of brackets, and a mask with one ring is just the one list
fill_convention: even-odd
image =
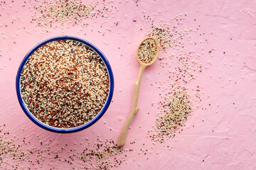
[(151, 62), (156, 56), (156, 42), (148, 38), (139, 46), (138, 57), (143, 63)]

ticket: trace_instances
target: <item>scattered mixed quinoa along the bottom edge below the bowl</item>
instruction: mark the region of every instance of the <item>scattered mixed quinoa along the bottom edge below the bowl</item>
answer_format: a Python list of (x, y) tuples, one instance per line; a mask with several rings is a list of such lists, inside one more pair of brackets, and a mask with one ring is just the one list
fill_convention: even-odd
[[(26, 130), (22, 128), (19, 132)], [(47, 169), (110, 170), (122, 166), (127, 154), (133, 151), (117, 148), (112, 138), (102, 140), (97, 136), (97, 140), (90, 140), (85, 137), (59, 146), (54, 146), (54, 138), (46, 139), (36, 133), (30, 137), (16, 136), (5, 124), (0, 125), (0, 169), (46, 169), (48, 164)]]

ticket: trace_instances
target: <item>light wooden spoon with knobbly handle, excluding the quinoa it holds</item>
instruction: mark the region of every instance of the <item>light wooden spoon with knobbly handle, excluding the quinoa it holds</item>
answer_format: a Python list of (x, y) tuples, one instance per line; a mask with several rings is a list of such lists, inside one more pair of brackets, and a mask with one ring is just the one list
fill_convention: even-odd
[[(141, 60), (139, 60), (139, 54), (138, 53), (139, 53), (139, 47), (141, 47), (142, 42), (144, 42), (147, 39), (154, 40), (155, 45), (156, 45), (156, 55), (154, 56), (153, 60), (151, 60), (151, 62), (144, 63)], [(144, 69), (147, 66), (153, 64), (156, 61), (156, 58), (157, 58), (158, 52), (159, 52), (159, 46), (157, 44), (156, 39), (149, 37), (149, 38), (145, 38), (142, 42), (139, 44), (139, 47), (137, 49), (137, 54), (136, 54), (137, 61), (139, 62), (140, 67), (139, 67), (139, 74), (138, 74), (137, 81), (134, 82), (134, 94), (133, 94), (133, 100), (132, 100), (132, 111), (129, 114), (129, 117), (127, 118), (126, 123), (124, 124), (124, 127), (122, 128), (122, 132), (121, 132), (121, 134), (119, 136), (119, 140), (117, 142), (117, 147), (122, 147), (125, 144), (126, 136), (127, 136), (127, 130), (129, 129), (129, 125), (130, 125), (130, 123), (132, 123), (132, 120), (134, 119), (135, 115), (139, 111), (139, 108), (137, 106), (137, 101), (138, 101), (138, 96), (139, 96), (139, 86), (140, 86), (141, 81), (142, 81), (142, 74), (144, 72)]]

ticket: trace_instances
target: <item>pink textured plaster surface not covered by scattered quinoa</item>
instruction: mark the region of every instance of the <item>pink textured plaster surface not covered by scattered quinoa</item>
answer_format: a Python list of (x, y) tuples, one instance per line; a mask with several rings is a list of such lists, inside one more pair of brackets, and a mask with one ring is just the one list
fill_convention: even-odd
[[(146, 133), (154, 130), (151, 126), (156, 120), (157, 103), (162, 98), (159, 96), (161, 89), (151, 84), (169, 77), (169, 67), (162, 68), (160, 61), (156, 60), (144, 72), (138, 103), (140, 110), (132, 122), (127, 145), (124, 146), (124, 149), (133, 149), (133, 152), (128, 152), (127, 161), (115, 169), (256, 169), (255, 1), (156, 0), (139, 1), (138, 6), (132, 0), (123, 0), (122, 3), (114, 1), (113, 6), (118, 7), (119, 11), (114, 11), (114, 18), (109, 18), (106, 23), (101, 24), (100, 18), (97, 23), (87, 19), (89, 26), (82, 30), (81, 26), (64, 27), (64, 35), (84, 38), (102, 50), (110, 61), (115, 81), (113, 102), (105, 115), (90, 128), (73, 134), (56, 134), (39, 128), (23, 113), (16, 97), (16, 72), (23, 57), (38, 42), (63, 35), (63, 30), (48, 28), (50, 32), (46, 34), (46, 28), (36, 27), (36, 22), (31, 23), (31, 16), (35, 12), (33, 1), (26, 1), (25, 7), (22, 6), (23, 1), (6, 2), (0, 6), (0, 124), (6, 125), (11, 136), (26, 137), (31, 142), (24, 148), (46, 148), (46, 145), (40, 145), (35, 134), (43, 143), (52, 140), (50, 149), (53, 152), (65, 144), (68, 144), (68, 149), (87, 147), (73, 145), (74, 142), (84, 142), (86, 137), (92, 143), (97, 142), (97, 136), (102, 140), (112, 137), (117, 142), (132, 106), (132, 84), (139, 72), (135, 57), (137, 45), (151, 28), (151, 23), (146, 23), (144, 16), (150, 16), (156, 25), (165, 22), (174, 26), (176, 23), (171, 23), (171, 18), (187, 13), (178, 29), (198, 28), (198, 33), (188, 34), (198, 45), (189, 45), (187, 35), (184, 37), (185, 47), (199, 53), (203, 51), (204, 55), (201, 57), (203, 71), (186, 87), (193, 94), (192, 89), (200, 86), (201, 103), (193, 101), (193, 113), (182, 132), (177, 132), (176, 137), (162, 144), (156, 142), (155, 146), (152, 145)], [(102, 1), (99, 6), (102, 6)], [(137, 22), (133, 22), (134, 19)], [(119, 25), (111, 26), (117, 20)], [(105, 35), (102, 36), (98, 30), (106, 31)], [(215, 49), (213, 57), (208, 53), (210, 49)], [(177, 55), (176, 50), (169, 49), (167, 53), (160, 52), (159, 57), (171, 53)], [(169, 63), (171, 68), (178, 66), (174, 59)], [(130, 142), (135, 143), (130, 145)], [(148, 152), (144, 155), (140, 149), (147, 149)], [(67, 152), (61, 157), (68, 156)], [(48, 163), (56, 162), (47, 159), (42, 169), (50, 169), (52, 166)], [(23, 165), (26, 167), (27, 163)], [(69, 169), (71, 166), (60, 163), (58, 167)]]

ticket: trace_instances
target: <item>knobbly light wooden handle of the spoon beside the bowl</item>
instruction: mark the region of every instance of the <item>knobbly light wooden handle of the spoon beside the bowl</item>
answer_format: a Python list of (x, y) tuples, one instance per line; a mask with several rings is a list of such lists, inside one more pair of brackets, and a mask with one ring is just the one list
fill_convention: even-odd
[(121, 134), (119, 136), (119, 140), (117, 142), (117, 147), (122, 147), (125, 144), (127, 130), (129, 129), (129, 125), (132, 123), (132, 120), (134, 119), (135, 115), (139, 111), (139, 108), (137, 106), (138, 96), (139, 96), (139, 86), (141, 84), (142, 74), (143, 74), (145, 68), (146, 68), (145, 65), (140, 64), (138, 78), (137, 78), (137, 81), (134, 82), (132, 110), (131, 110), (131, 113), (129, 113), (129, 117), (127, 118), (127, 121), (125, 122), (124, 127), (122, 128), (122, 132), (121, 132)]

